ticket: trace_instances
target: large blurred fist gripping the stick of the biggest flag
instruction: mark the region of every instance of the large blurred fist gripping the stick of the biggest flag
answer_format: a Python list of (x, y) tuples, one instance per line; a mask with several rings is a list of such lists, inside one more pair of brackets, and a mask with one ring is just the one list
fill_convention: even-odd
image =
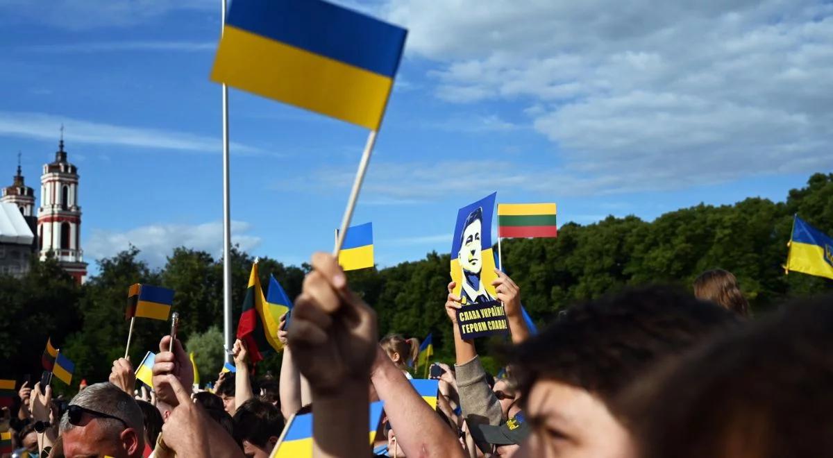
[(347, 381), (367, 384), (377, 349), (376, 312), (347, 288), (335, 257), (312, 256), (288, 337), (313, 398), (338, 392)]

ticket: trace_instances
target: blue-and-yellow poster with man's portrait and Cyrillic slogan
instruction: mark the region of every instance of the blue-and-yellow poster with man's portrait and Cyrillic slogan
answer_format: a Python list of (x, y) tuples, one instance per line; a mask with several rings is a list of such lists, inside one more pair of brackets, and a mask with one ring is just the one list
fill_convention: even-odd
[(462, 207), (457, 212), (451, 241), (451, 281), (462, 308), (457, 324), (463, 339), (507, 334), (503, 305), (497, 301), (495, 255), (491, 246), (491, 220), (497, 193)]

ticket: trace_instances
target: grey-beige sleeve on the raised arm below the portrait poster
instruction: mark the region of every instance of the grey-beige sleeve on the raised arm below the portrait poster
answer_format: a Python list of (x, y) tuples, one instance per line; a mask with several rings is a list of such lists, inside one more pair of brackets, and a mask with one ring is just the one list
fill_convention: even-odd
[(475, 356), (456, 368), (457, 391), (463, 417), (471, 424), (499, 426), (503, 421), (501, 403), (486, 383), (486, 371)]

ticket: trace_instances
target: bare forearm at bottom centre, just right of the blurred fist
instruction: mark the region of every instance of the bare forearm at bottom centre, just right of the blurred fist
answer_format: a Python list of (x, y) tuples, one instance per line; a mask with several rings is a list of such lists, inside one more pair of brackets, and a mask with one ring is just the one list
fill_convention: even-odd
[(377, 346), (371, 381), (379, 399), (385, 401), (385, 413), (406, 456), (463, 456), (451, 428), (413, 389), (381, 346)]

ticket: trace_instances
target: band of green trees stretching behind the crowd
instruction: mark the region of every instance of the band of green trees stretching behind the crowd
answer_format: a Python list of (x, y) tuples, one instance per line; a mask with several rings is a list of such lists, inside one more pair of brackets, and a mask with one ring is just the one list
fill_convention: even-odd
[[(786, 202), (751, 197), (734, 205), (698, 205), (669, 212), (653, 222), (638, 217), (607, 217), (587, 226), (568, 223), (556, 239), (512, 239), (502, 243), (504, 270), (521, 286), (521, 300), (540, 325), (561, 307), (645, 283), (690, 286), (706, 269), (732, 271), (751, 301), (764, 311), (788, 296), (833, 289), (833, 281), (794, 273), (784, 275), (786, 241), (792, 217), (833, 233), (833, 174), (816, 174), (807, 186), (789, 192)], [(0, 374), (40, 373), (47, 336), (76, 363), (73, 385), (107, 378), (113, 360), (124, 354), (128, 322), (127, 288), (143, 282), (176, 291), (174, 310), (182, 316), (180, 336), (197, 354), (203, 382), (222, 366), (222, 259), (205, 251), (175, 249), (162, 269), (152, 270), (131, 248), (98, 261), (98, 274), (77, 286), (54, 260), (32, 261), (22, 278), (0, 276)], [(232, 250), (232, 310), (237, 326), (252, 256)], [(382, 334), (422, 338), (433, 333), (437, 356), (453, 354), (451, 327), (442, 304), (449, 280), (448, 254), (431, 252), (420, 261), (384, 269), (348, 272), (352, 288), (374, 306)], [(260, 281), (267, 290), (274, 275), (294, 300), (309, 266), (286, 266), (260, 259)], [(167, 323), (138, 319), (130, 355), (139, 361), (158, 351)], [(217, 346), (219, 336), (220, 346)], [(487, 345), (478, 342), (478, 346)], [(263, 361), (259, 371), (277, 371), (280, 357)], [(61, 387), (58, 386), (60, 391)]]

